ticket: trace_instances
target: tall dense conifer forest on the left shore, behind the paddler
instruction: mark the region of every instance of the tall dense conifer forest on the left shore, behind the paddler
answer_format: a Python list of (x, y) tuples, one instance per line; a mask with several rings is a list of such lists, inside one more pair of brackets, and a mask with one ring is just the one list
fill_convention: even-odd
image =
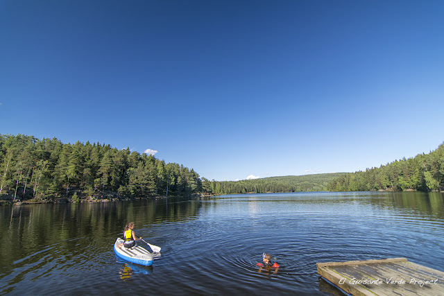
[(0, 134), (0, 196), (14, 200), (71, 197), (77, 192), (147, 197), (200, 191), (202, 181), (193, 169), (146, 153), (101, 143)]

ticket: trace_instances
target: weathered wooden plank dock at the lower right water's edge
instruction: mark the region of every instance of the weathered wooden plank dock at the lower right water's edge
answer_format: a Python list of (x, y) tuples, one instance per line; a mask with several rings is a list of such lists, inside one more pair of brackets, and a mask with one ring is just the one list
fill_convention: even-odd
[(316, 263), (318, 274), (351, 295), (444, 295), (444, 272), (405, 258)]

